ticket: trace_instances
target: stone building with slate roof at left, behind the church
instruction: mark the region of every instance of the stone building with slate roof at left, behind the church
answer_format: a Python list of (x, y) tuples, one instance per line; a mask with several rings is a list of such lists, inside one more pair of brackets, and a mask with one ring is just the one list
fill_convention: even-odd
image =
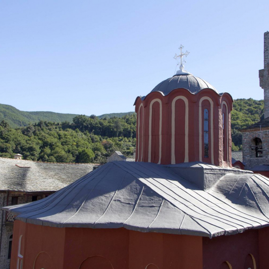
[[(0, 205), (41, 200), (93, 170), (92, 164), (51, 164), (0, 157)], [(14, 215), (0, 215), (0, 269), (10, 268)]]

